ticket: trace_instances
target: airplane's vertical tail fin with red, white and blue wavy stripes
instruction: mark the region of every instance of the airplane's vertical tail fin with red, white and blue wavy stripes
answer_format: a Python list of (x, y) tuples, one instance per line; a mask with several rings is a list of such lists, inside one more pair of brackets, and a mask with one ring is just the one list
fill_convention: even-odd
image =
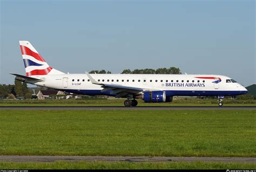
[(22, 57), (26, 70), (26, 76), (64, 74), (51, 68), (29, 41), (19, 41)]

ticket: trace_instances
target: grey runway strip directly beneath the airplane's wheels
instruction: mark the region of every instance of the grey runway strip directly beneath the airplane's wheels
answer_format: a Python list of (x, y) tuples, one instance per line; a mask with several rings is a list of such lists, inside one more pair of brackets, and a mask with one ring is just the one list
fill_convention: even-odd
[(256, 106), (0, 106), (0, 110), (256, 110)]

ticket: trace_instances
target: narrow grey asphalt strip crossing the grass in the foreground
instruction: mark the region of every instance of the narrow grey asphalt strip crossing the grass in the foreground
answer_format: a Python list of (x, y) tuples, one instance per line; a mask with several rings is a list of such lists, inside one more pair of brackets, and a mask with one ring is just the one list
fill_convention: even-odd
[(240, 162), (256, 163), (256, 157), (146, 157), (146, 156), (0, 156), (2, 162), (78, 162), (78, 161), (126, 161), (126, 162)]

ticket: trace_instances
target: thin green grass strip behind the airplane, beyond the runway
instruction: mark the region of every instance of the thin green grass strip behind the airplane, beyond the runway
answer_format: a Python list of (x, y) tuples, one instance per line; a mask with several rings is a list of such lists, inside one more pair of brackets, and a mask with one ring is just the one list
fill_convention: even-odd
[[(48, 99), (48, 100), (2, 100), (0, 106), (124, 106), (125, 99)], [(170, 103), (144, 103), (138, 106), (218, 106), (217, 99), (174, 99)], [(224, 106), (255, 106), (256, 100), (226, 99)]]

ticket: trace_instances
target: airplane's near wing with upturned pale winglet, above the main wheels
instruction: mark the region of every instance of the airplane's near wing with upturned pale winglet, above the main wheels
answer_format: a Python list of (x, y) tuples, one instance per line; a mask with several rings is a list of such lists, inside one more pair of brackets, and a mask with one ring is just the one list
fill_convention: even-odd
[(93, 84), (102, 85), (103, 90), (101, 90), (101, 92), (111, 90), (110, 94), (117, 94), (116, 97), (118, 98), (125, 97), (127, 94), (136, 95), (139, 92), (143, 91), (142, 88), (137, 88), (137, 87), (129, 87), (129, 86), (124, 86), (119, 84), (100, 83), (100, 82), (97, 82), (95, 79), (93, 79), (93, 77), (89, 73), (86, 73), (86, 75), (89, 77), (90, 81)]

